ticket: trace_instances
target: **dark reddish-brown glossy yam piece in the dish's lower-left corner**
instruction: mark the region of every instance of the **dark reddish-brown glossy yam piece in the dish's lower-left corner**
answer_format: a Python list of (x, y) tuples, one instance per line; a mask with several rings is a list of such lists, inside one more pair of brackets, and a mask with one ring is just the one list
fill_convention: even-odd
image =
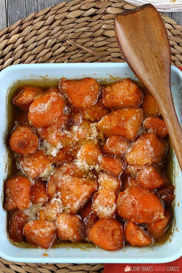
[(8, 215), (9, 238), (14, 242), (22, 242), (23, 228), (28, 222), (28, 215), (24, 211), (13, 211)]

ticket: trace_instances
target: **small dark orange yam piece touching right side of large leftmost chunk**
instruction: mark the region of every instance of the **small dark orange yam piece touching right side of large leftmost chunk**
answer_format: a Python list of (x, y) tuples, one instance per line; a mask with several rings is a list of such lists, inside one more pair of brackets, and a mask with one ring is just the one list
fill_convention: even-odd
[(30, 201), (32, 204), (45, 204), (48, 198), (46, 185), (41, 179), (30, 187)]

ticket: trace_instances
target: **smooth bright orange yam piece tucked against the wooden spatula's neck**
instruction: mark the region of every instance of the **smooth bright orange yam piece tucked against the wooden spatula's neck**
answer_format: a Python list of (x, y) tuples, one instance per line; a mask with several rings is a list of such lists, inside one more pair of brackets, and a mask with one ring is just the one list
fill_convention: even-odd
[(161, 112), (157, 106), (153, 96), (146, 94), (143, 96), (143, 101), (140, 107), (143, 109), (144, 115), (160, 116)]

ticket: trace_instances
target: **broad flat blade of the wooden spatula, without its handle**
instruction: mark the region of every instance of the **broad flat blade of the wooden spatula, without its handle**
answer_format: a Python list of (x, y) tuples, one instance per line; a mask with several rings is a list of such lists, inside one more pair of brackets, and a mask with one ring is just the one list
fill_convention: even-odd
[(171, 53), (167, 31), (157, 9), (146, 4), (119, 13), (114, 19), (114, 29), (126, 62), (159, 100), (156, 90), (161, 86), (170, 89)]

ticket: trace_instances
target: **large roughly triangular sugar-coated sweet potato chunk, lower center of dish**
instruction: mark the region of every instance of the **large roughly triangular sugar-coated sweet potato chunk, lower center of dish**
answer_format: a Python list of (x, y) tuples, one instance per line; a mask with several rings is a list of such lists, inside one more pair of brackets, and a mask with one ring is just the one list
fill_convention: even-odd
[(66, 210), (75, 214), (86, 204), (91, 194), (97, 190), (93, 180), (62, 175), (62, 169), (57, 168), (50, 176), (47, 191), (51, 197), (61, 193), (61, 201)]

